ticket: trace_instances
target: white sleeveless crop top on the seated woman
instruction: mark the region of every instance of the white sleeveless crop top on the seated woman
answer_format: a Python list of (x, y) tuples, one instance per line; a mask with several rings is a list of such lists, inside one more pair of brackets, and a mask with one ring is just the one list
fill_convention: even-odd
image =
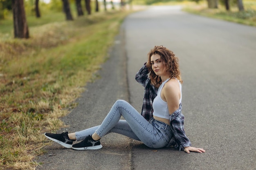
[[(164, 84), (166, 82), (168, 82), (170, 78), (166, 79), (164, 82), (162, 82), (162, 84), (159, 86), (158, 91), (157, 91), (157, 96), (155, 97), (154, 101), (153, 101), (153, 115), (157, 116), (157, 117), (161, 117), (164, 119), (169, 119), (170, 114), (169, 114), (169, 110), (168, 110), (168, 106), (167, 106), (167, 102), (165, 102), (162, 98), (161, 98), (161, 91), (162, 88), (164, 87)], [(181, 103), (181, 99), (182, 99), (182, 93), (181, 93), (181, 83), (180, 81), (177, 79), (177, 81), (180, 84), (180, 103)]]

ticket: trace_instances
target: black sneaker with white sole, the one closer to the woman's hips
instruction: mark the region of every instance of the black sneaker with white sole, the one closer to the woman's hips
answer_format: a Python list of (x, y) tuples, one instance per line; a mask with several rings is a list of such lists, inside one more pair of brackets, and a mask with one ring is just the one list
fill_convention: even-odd
[(72, 146), (74, 150), (94, 150), (102, 148), (101, 142), (99, 140), (94, 141), (89, 135), (83, 141)]

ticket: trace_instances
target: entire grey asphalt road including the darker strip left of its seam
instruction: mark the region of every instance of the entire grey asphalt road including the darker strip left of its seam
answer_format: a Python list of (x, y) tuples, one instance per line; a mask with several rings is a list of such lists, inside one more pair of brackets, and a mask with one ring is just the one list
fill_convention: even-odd
[(180, 59), (184, 84), (182, 113), (186, 135), (205, 153), (150, 149), (117, 134), (101, 139), (93, 151), (45, 147), (39, 170), (255, 170), (256, 27), (182, 12), (180, 7), (151, 7), (129, 15), (110, 49), (109, 60), (88, 83), (79, 105), (63, 118), (74, 132), (101, 123), (116, 99), (139, 112), (143, 87), (135, 73), (155, 45)]

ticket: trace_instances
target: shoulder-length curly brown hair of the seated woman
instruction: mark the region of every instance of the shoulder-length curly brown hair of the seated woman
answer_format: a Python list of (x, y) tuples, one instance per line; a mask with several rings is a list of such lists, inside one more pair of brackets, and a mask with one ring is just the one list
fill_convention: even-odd
[(156, 75), (152, 69), (150, 59), (153, 54), (160, 55), (163, 64), (166, 64), (166, 71), (167, 73), (169, 73), (170, 78), (176, 78), (180, 80), (180, 83), (183, 82), (180, 74), (178, 57), (175, 56), (173, 51), (166, 49), (166, 47), (164, 46), (155, 46), (148, 53), (148, 62), (146, 65), (146, 67), (148, 68), (148, 71), (150, 71), (149, 77), (151, 81), (154, 83), (154, 86), (159, 87), (159, 85), (162, 84), (162, 79), (161, 77)]

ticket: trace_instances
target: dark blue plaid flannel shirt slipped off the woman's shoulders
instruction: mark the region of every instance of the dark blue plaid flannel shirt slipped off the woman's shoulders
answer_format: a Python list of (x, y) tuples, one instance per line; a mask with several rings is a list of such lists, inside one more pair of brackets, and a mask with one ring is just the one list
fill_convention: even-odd
[[(141, 115), (147, 121), (149, 121), (153, 117), (152, 104), (155, 97), (157, 96), (158, 88), (151, 84), (151, 81), (148, 78), (148, 68), (146, 68), (145, 64), (136, 73), (135, 79), (137, 82), (139, 82), (139, 84), (145, 87)], [(182, 104), (180, 103), (180, 107), (173, 114), (170, 115), (170, 124), (173, 136), (166, 147), (172, 146), (174, 148), (184, 150), (184, 147), (191, 146), (191, 143), (189, 141), (189, 138), (186, 137), (184, 131), (184, 115), (182, 115), (181, 110)]]

